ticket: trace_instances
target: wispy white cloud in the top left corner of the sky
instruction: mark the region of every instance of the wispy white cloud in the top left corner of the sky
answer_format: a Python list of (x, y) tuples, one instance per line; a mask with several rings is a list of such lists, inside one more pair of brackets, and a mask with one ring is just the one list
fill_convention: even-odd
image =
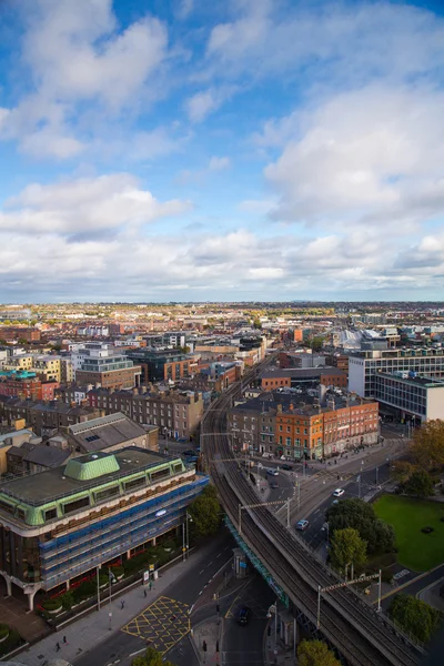
[(79, 154), (91, 131), (164, 94), (167, 54), (167, 30), (155, 18), (120, 31), (110, 0), (36, 0), (22, 38), (32, 92), (2, 110), (0, 139), (33, 155)]

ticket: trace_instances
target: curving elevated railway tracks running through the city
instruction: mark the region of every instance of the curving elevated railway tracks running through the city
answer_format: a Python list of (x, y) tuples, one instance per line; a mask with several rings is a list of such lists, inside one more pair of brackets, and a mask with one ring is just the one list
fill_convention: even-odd
[[(252, 381), (270, 362), (256, 366), (244, 382)], [(204, 456), (220, 494), (222, 505), (234, 525), (239, 505), (256, 504), (258, 496), (238, 468), (226, 432), (226, 410), (241, 386), (231, 386), (206, 412)], [(216, 461), (221, 460), (220, 463)], [(222, 462), (223, 461), (223, 462)], [(319, 562), (310, 548), (290, 533), (268, 507), (248, 508), (242, 515), (242, 538), (260, 557), (275, 582), (312, 622), (317, 609), (317, 587), (341, 579)], [(355, 666), (413, 666), (421, 652), (371, 608), (351, 588), (340, 588), (323, 597), (321, 630)]]

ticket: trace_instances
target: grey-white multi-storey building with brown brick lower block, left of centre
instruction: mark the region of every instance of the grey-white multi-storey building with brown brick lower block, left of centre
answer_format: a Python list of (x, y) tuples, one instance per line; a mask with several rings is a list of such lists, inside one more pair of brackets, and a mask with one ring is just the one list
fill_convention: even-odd
[(77, 384), (104, 389), (132, 389), (140, 384), (142, 369), (111, 345), (90, 342), (72, 352)]

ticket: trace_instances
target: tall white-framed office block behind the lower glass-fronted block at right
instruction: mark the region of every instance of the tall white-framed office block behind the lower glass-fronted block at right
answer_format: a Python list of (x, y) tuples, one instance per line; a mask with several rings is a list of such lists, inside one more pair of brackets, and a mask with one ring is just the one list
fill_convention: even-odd
[(379, 372), (414, 372), (444, 379), (444, 349), (422, 347), (354, 352), (349, 356), (349, 391), (375, 397)]

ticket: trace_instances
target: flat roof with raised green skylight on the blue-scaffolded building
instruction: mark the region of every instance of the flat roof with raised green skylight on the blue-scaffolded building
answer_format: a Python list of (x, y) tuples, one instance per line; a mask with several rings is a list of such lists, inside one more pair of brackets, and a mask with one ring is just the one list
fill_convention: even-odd
[[(79, 463), (88, 463), (109, 456), (115, 456), (119, 463), (119, 471), (98, 476), (94, 480), (79, 481), (65, 476), (67, 466), (61, 465), (60, 467), (46, 470), (38, 474), (8, 481), (0, 485), (0, 494), (9, 495), (26, 504), (41, 505), (65, 495), (74, 495), (75, 493), (104, 485), (105, 483), (117, 481), (122, 476), (129, 476), (135, 472), (157, 467), (162, 463), (169, 463), (173, 460), (169, 455), (154, 453), (145, 448), (139, 448), (138, 446), (129, 446), (128, 448), (121, 448), (113, 453), (98, 451), (72, 460)], [(178, 458), (181, 460), (179, 456)]]

